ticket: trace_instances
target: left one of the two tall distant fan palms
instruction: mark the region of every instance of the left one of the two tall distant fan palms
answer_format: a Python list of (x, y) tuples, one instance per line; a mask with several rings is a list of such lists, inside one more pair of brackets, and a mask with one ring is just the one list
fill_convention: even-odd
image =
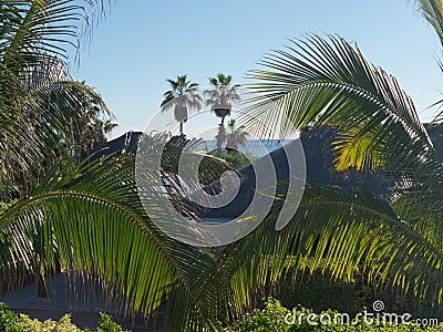
[(183, 135), (183, 124), (187, 122), (188, 110), (199, 110), (202, 97), (196, 93), (198, 84), (187, 81), (187, 75), (177, 76), (177, 81), (166, 80), (171, 90), (163, 95), (162, 111), (174, 108), (174, 117), (179, 123), (179, 133)]

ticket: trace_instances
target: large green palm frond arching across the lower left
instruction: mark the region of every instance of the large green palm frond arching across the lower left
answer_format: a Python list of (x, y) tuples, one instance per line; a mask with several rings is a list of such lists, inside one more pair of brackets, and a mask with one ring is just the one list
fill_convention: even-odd
[[(137, 194), (133, 156), (53, 172), (0, 215), (0, 260), (11, 277), (20, 270), (44, 274), (58, 264), (82, 270), (105, 282), (114, 291), (111, 299), (123, 299), (127, 309), (155, 314), (166, 294), (167, 319), (176, 330), (219, 330), (213, 295), (226, 297), (227, 276), (209, 253), (169, 238), (151, 221)], [(150, 216), (174, 218), (155, 204), (164, 193), (154, 187), (146, 193)]]

